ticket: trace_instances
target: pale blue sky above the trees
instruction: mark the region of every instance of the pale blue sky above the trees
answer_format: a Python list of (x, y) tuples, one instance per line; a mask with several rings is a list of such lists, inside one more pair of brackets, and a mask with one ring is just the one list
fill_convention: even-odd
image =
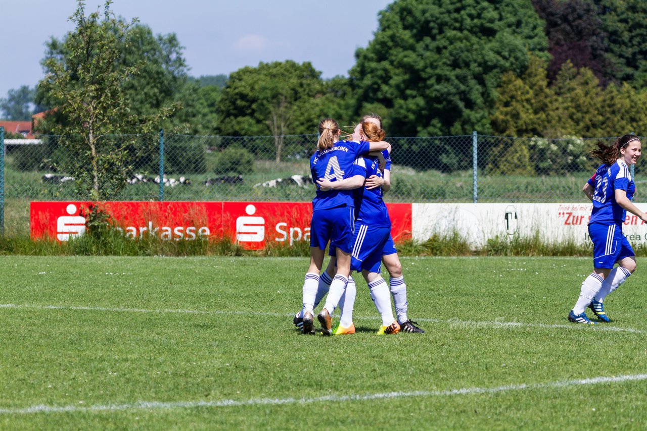
[[(393, 0), (114, 0), (111, 9), (137, 17), (153, 34), (175, 33), (189, 74), (230, 74), (269, 61), (310, 61), (322, 78), (347, 76), (356, 48), (377, 30), (378, 12)], [(86, 14), (104, 1), (85, 0)], [(43, 78), (45, 42), (73, 30), (76, 0), (1, 0), (0, 98)]]

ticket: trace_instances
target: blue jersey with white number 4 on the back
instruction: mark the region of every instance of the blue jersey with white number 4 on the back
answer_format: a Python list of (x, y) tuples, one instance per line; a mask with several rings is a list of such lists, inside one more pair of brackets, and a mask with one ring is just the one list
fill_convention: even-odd
[[(368, 142), (338, 141), (332, 148), (317, 151), (310, 158), (310, 171), (314, 184), (319, 178), (330, 181), (344, 180), (355, 174), (363, 174), (364, 160), (358, 156), (368, 152)], [(357, 169), (360, 171), (357, 171)], [(313, 211), (346, 205), (352, 207), (352, 190), (321, 191), (317, 185), (317, 194), (313, 199)]]

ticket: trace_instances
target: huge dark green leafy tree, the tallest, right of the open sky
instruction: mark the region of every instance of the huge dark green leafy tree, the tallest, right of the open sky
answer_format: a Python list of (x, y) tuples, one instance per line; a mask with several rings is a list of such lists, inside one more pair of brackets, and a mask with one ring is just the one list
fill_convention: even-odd
[(391, 136), (490, 131), (501, 75), (519, 75), (528, 52), (547, 58), (543, 23), (523, 0), (397, 0), (356, 51), (356, 112), (388, 109)]

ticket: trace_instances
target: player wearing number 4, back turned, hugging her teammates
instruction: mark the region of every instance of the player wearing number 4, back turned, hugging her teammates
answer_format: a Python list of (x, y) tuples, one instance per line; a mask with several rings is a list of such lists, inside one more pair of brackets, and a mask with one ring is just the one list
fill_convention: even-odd
[[(310, 159), (313, 182), (330, 182), (349, 179), (344, 187), (322, 191), (317, 185), (313, 199), (313, 216), (310, 224), (310, 266), (303, 282), (303, 333), (314, 333), (314, 297), (319, 284), (324, 250), (328, 242), (336, 250), (337, 273), (331, 281), (325, 305), (317, 319), (322, 324), (323, 335), (331, 335), (330, 317), (338, 305), (346, 284), (351, 266), (351, 247), (354, 227), (354, 202), (352, 189), (364, 184), (362, 173), (362, 153), (390, 149), (389, 143), (340, 141), (339, 125), (332, 118), (324, 118), (319, 123), (317, 151)], [(359, 169), (359, 171), (357, 170)]]

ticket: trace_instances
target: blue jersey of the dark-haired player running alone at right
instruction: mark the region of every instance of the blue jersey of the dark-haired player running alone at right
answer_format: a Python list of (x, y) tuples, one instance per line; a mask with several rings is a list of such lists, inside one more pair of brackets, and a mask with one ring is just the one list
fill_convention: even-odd
[(620, 159), (613, 165), (602, 163), (587, 183), (593, 187), (593, 211), (589, 224), (622, 225), (627, 211), (615, 202), (615, 191), (626, 191), (629, 199), (636, 191), (626, 163)]

